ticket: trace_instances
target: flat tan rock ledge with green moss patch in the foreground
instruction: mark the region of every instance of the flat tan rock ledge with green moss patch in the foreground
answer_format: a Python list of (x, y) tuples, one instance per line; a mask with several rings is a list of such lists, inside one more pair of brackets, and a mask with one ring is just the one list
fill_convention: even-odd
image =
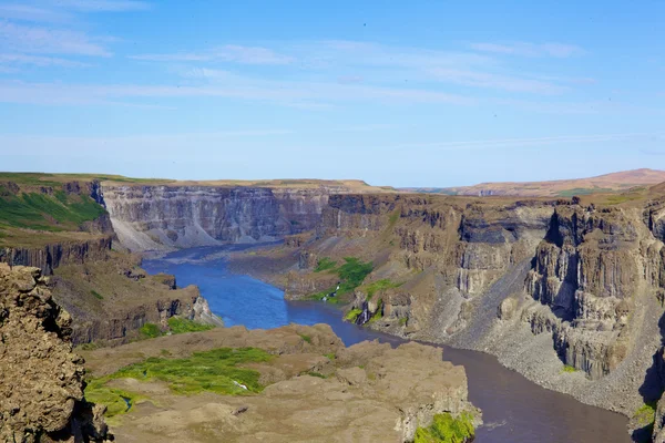
[(216, 328), (84, 352), (86, 395), (123, 396), (119, 441), (468, 442), (480, 411), (441, 352), (345, 348), (327, 324)]

